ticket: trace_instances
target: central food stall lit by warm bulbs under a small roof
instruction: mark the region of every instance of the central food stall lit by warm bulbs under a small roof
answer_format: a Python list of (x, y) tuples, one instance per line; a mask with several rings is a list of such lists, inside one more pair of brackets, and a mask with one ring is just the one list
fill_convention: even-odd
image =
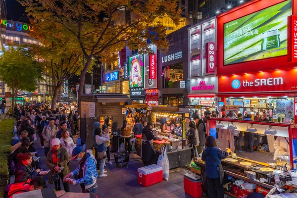
[[(191, 149), (186, 139), (186, 128), (188, 123), (185, 119), (190, 116), (189, 109), (182, 109), (177, 107), (152, 107), (151, 109), (152, 120), (154, 124), (154, 135), (160, 139), (153, 141), (157, 156), (155, 162), (161, 154), (162, 146), (166, 147), (167, 156), (169, 160), (169, 168), (177, 168), (191, 162)], [(175, 123), (177, 119), (182, 122), (182, 137), (172, 135), (171, 133), (162, 132), (162, 120), (170, 117)], [(142, 135), (135, 136), (137, 154), (141, 155)]]

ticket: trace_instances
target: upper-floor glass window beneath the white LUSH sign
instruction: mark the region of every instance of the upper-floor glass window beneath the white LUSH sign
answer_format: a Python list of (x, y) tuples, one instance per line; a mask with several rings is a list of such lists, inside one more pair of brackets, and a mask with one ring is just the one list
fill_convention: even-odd
[(183, 63), (168, 65), (162, 69), (163, 88), (179, 88), (183, 80)]

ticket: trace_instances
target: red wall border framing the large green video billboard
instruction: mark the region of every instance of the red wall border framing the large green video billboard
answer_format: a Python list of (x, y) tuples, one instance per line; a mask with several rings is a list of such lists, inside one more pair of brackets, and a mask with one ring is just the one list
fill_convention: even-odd
[[(248, 14), (284, 2), (285, 0), (252, 0), (217, 16), (217, 74), (230, 75), (245, 72), (293, 68), (297, 64), (288, 62), (288, 55), (224, 65), (224, 24)], [(293, 14), (297, 15), (297, 0), (292, 0)], [(296, 13), (295, 13), (296, 12)], [(288, 35), (288, 39), (290, 35)]]

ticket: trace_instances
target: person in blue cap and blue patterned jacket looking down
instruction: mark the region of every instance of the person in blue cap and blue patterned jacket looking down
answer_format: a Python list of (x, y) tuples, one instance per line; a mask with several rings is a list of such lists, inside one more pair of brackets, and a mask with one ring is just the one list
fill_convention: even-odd
[[(79, 167), (66, 175), (63, 182), (73, 185), (80, 184), (83, 193), (94, 193), (95, 197), (98, 198), (98, 195), (96, 195), (98, 190), (98, 172), (95, 156), (90, 152), (85, 152), (82, 147), (76, 147), (72, 151), (72, 160), (79, 161)], [(68, 179), (73, 176), (75, 177), (74, 181)]]

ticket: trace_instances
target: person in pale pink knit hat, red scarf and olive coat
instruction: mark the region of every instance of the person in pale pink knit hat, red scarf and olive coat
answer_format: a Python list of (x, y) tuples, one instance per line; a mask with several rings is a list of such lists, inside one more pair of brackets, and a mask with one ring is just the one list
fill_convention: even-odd
[[(59, 139), (55, 138), (51, 141), (52, 149), (49, 150), (47, 155), (47, 166), (51, 170), (49, 172), (49, 184), (54, 183), (55, 190), (60, 191), (60, 179), (63, 181), (63, 178), (69, 174), (69, 167), (67, 163), (69, 162), (69, 154), (66, 148), (61, 146)], [(61, 168), (63, 167), (63, 168)], [(67, 182), (63, 182), (64, 191), (70, 192)]]

